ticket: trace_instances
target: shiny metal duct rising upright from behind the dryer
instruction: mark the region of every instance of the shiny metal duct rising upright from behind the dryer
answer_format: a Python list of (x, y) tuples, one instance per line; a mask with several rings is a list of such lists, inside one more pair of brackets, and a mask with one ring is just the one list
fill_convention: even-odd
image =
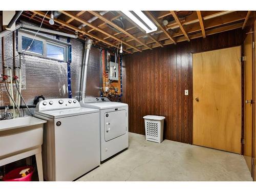
[(89, 55), (92, 47), (92, 39), (86, 39), (86, 46), (84, 47), (84, 57), (82, 65), (82, 77), (81, 77), (81, 87), (80, 87), (80, 98), (79, 101), (83, 100), (86, 97), (86, 81), (87, 81), (87, 70), (89, 63)]

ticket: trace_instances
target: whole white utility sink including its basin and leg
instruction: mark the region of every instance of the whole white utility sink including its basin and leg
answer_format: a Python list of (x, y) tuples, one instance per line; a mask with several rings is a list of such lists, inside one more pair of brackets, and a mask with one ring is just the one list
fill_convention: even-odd
[(32, 116), (0, 121), (0, 166), (35, 155), (39, 181), (42, 173), (42, 133), (46, 120)]

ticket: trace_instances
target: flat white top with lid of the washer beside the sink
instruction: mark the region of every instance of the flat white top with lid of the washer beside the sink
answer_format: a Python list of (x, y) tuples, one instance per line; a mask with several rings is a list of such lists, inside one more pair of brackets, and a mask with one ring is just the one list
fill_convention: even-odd
[(89, 113), (97, 113), (97, 109), (89, 108), (70, 108), (70, 109), (60, 109), (60, 110), (49, 110), (49, 111), (40, 111), (36, 112), (38, 115), (42, 115), (48, 118), (57, 119), (62, 117), (71, 117), (75, 115), (83, 115)]

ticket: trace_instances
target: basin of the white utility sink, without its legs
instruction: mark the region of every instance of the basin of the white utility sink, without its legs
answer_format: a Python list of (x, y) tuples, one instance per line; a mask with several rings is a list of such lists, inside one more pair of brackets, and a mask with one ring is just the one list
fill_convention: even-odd
[(0, 160), (5, 156), (41, 146), (46, 122), (32, 116), (1, 120)]

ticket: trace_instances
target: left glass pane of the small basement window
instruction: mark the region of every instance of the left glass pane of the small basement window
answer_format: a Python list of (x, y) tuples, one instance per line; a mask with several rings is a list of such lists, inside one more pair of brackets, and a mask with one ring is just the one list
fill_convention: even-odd
[[(32, 42), (32, 38), (22, 36), (22, 50), (26, 50)], [(44, 46), (42, 41), (34, 40), (28, 51), (38, 54), (43, 54)]]

